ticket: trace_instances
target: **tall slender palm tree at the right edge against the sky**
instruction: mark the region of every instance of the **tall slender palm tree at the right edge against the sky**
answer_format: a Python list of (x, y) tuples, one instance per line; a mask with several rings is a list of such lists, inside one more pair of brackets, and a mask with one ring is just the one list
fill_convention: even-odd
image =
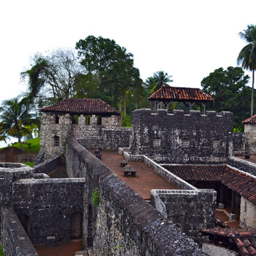
[(254, 70), (256, 69), (256, 26), (248, 25), (247, 29), (238, 34), (248, 45), (244, 46), (237, 57), (237, 65), (252, 71), (252, 102), (251, 116), (253, 116)]

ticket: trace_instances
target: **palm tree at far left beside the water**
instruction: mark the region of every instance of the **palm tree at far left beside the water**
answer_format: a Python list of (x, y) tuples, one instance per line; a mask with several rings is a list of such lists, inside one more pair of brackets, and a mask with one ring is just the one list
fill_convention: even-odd
[(8, 134), (18, 138), (20, 148), (22, 151), (24, 151), (21, 138), (24, 132), (28, 133), (28, 130), (24, 127), (24, 125), (31, 124), (31, 115), (28, 111), (28, 104), (24, 100), (19, 101), (18, 97), (10, 100), (4, 100), (2, 106), (0, 107), (0, 112), (3, 131), (8, 132)]

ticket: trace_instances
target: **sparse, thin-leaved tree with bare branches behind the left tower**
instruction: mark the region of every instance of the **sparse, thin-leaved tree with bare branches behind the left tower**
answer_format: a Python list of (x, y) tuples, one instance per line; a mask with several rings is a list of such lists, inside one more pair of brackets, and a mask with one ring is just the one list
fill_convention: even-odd
[(56, 49), (43, 54), (35, 54), (31, 68), (21, 73), (28, 79), (28, 97), (52, 99), (54, 102), (72, 97), (78, 74), (84, 69), (79, 64), (72, 49)]

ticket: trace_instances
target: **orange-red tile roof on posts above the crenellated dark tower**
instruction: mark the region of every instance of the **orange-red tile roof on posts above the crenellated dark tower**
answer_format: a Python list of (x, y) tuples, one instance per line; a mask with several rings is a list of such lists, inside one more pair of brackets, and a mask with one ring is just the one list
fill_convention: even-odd
[(148, 100), (208, 102), (214, 99), (211, 95), (198, 88), (162, 86)]

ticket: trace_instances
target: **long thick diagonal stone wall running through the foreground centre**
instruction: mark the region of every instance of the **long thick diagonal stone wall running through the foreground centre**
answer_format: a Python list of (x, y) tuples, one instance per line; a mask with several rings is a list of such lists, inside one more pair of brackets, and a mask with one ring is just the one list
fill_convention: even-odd
[[(72, 138), (66, 155), (68, 175), (85, 178), (84, 243), (93, 243), (95, 255), (204, 255), (198, 244)], [(96, 187), (98, 207), (92, 205)]]

